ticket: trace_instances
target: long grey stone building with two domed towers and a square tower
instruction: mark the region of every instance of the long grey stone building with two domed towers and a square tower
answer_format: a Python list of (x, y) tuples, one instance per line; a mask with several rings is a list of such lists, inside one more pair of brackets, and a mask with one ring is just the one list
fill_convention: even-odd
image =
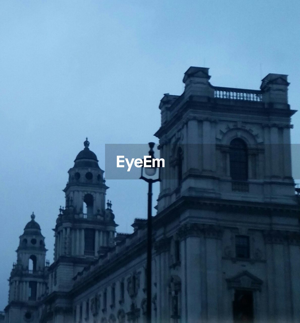
[[(208, 68), (190, 67), (184, 92), (160, 102), (155, 135), (165, 168), (153, 217), (153, 322), (299, 322), (287, 76), (268, 74), (259, 90), (209, 79)], [(116, 233), (103, 171), (84, 145), (68, 172), (54, 263), (40, 268), (47, 288), (20, 306), (23, 278), (13, 269), (7, 323), (146, 322), (147, 221)], [(24, 268), (34, 252), (21, 253), (22, 241), (17, 266), (24, 259)], [(36, 281), (34, 270), (26, 275)], [(36, 279), (45, 286), (44, 276)]]

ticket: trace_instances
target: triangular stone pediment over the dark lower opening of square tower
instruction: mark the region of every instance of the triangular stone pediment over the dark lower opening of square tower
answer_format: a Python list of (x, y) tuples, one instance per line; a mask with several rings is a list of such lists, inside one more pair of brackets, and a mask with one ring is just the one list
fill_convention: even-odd
[(228, 288), (261, 290), (263, 281), (245, 270), (232, 278), (226, 279)]

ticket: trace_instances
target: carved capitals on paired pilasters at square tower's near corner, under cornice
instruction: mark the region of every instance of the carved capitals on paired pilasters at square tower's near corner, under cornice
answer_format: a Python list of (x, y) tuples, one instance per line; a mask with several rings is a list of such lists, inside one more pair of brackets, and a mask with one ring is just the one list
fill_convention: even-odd
[(202, 223), (187, 223), (181, 226), (178, 230), (181, 240), (187, 237), (201, 237), (221, 239), (223, 229), (215, 224), (202, 224)]

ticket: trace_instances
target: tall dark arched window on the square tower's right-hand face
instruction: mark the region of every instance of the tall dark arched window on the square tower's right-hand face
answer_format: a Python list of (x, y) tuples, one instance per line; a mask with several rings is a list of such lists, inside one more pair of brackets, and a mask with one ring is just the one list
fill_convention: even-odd
[(234, 181), (248, 180), (247, 145), (240, 138), (230, 143), (230, 176)]

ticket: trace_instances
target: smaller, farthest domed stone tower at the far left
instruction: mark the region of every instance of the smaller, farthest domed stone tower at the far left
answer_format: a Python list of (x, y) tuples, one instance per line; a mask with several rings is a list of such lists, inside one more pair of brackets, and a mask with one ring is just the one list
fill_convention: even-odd
[(9, 277), (8, 305), (5, 316), (9, 323), (38, 322), (37, 301), (46, 291), (47, 278), (45, 237), (31, 214), (16, 250), (17, 262)]

